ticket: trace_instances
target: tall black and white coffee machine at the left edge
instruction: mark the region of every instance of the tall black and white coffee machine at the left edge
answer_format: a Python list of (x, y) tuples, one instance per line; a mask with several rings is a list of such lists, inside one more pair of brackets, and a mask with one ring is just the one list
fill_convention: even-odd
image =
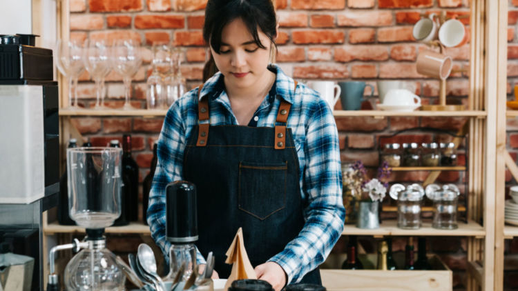
[(52, 50), (35, 47), (35, 37), (0, 35), (0, 243), (34, 259), (23, 290), (44, 289), (41, 213), (59, 192), (57, 82)]

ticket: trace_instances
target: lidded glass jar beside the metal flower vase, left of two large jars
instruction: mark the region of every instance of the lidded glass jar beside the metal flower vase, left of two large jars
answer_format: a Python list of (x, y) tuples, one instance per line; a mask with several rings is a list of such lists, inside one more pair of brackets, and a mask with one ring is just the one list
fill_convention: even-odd
[(398, 201), (398, 228), (421, 228), (421, 204), (425, 195), (423, 187), (416, 183), (407, 187), (396, 183), (390, 187), (389, 194)]

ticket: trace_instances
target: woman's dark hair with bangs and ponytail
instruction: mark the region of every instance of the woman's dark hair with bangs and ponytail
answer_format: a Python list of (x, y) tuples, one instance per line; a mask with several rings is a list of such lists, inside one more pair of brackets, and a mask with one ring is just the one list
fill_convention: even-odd
[[(214, 52), (220, 53), (223, 28), (238, 18), (247, 26), (259, 48), (266, 47), (259, 39), (258, 28), (275, 44), (277, 18), (272, 0), (209, 0), (205, 8), (203, 39)], [(205, 71), (209, 74), (211, 68), (213, 72), (218, 72), (212, 56), (203, 70), (204, 81)], [(209, 74), (207, 79), (211, 76)]]

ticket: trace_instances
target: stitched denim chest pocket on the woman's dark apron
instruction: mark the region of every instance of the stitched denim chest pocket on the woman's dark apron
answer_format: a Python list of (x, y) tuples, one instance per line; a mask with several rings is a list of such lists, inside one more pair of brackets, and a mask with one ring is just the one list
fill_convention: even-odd
[(239, 163), (240, 210), (260, 220), (286, 207), (288, 164)]

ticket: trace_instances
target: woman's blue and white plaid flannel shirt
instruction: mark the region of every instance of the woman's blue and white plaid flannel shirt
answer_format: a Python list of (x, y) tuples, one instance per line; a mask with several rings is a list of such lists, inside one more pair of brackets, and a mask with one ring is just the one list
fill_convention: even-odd
[[(305, 207), (303, 230), (269, 261), (278, 263), (285, 270), (287, 283), (297, 283), (323, 263), (343, 230), (345, 209), (338, 131), (332, 110), (318, 92), (302, 83), (298, 83), (294, 92), (293, 79), (278, 66), (270, 65), (269, 70), (277, 76), (273, 87), (275, 94), (267, 95), (253, 119), (258, 127), (274, 127), (280, 99), (291, 103), (287, 127), (294, 136), (300, 164), (300, 196)], [(209, 94), (211, 126), (238, 124), (224, 91), (223, 78), (218, 72), (204, 83), (200, 93), (200, 97)], [(198, 88), (195, 88), (169, 108), (157, 142), (158, 162), (149, 194), (147, 221), (166, 260), (169, 260), (171, 244), (165, 239), (164, 190), (168, 183), (183, 179), (184, 148), (197, 124)], [(200, 252), (197, 261), (205, 262)]]

